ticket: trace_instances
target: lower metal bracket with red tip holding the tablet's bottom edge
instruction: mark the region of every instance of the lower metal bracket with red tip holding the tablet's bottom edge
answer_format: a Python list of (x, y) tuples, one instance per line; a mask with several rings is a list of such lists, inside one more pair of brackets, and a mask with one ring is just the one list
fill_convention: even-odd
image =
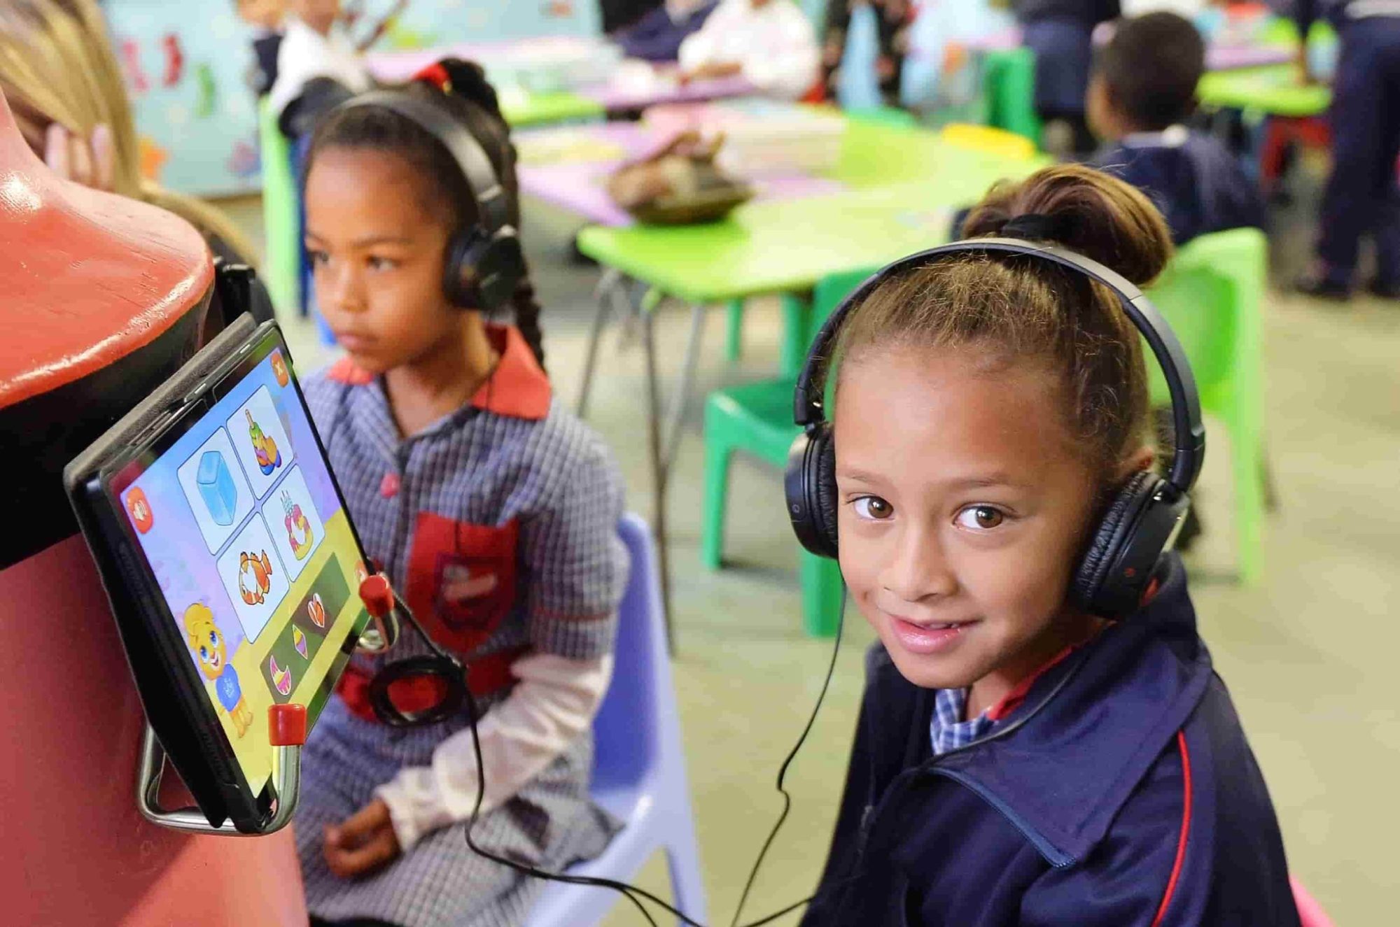
[(165, 772), (165, 751), (151, 725), (146, 725), (141, 741), (140, 766), (136, 774), (136, 807), (151, 823), (186, 833), (213, 833), (225, 837), (260, 837), (281, 830), (291, 823), (301, 787), (301, 746), (307, 742), (307, 706), (274, 704), (267, 709), (269, 739), (276, 748), (273, 756), (273, 793), (277, 807), (260, 830), (245, 833), (231, 826), (214, 828), (199, 808), (167, 809), (161, 807), (161, 774)]

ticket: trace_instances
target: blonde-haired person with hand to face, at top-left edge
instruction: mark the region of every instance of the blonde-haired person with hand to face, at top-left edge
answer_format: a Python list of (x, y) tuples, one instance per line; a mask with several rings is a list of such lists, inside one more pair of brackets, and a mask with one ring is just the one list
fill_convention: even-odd
[(0, 92), (55, 172), (167, 209), (199, 228), (214, 253), (252, 259), (217, 209), (141, 176), (132, 104), (95, 0), (0, 3)]

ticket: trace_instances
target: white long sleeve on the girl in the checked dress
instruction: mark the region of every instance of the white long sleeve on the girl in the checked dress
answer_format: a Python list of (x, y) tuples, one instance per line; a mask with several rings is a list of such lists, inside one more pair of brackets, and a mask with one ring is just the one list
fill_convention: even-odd
[[(482, 812), (500, 807), (582, 734), (608, 692), (612, 654), (568, 660), (531, 654), (515, 661), (515, 689), (477, 724), (486, 794)], [(407, 850), (424, 835), (472, 815), (476, 755), (463, 728), (437, 745), (431, 766), (407, 766), (375, 794), (389, 807), (393, 835)]]

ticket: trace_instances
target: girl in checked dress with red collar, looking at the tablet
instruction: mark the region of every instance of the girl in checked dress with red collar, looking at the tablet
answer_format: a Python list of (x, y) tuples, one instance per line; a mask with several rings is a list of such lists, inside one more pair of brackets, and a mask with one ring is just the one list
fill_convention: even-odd
[[(304, 389), (365, 550), (468, 665), (486, 769), (475, 839), (559, 870), (616, 828), (588, 777), (627, 576), (623, 489), (542, 368), (496, 92), (475, 64), (444, 62), (395, 99), (333, 111), (311, 143), (307, 246), (346, 356)], [(469, 178), (463, 151), (494, 176)], [(494, 302), (514, 325), (489, 321)], [(391, 657), (426, 654), (406, 634)], [(382, 724), (367, 695), (382, 665), (351, 661), (305, 748), (295, 823), (312, 921), (522, 923), (543, 884), (475, 856), (452, 826), (477, 794), (466, 713)], [(400, 689), (405, 710), (437, 696)]]

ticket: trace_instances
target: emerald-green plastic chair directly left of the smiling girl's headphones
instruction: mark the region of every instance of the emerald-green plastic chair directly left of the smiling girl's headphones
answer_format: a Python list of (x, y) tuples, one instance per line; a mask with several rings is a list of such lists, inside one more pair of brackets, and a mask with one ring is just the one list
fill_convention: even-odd
[[(806, 340), (832, 309), (865, 277), (853, 270), (823, 277), (812, 293), (812, 322)], [(748, 451), (774, 466), (787, 465), (788, 448), (801, 428), (792, 424), (792, 386), (797, 377), (717, 389), (704, 409), (704, 525), (700, 557), (710, 570), (724, 566), (724, 522), (729, 496), (729, 461)], [(836, 560), (798, 552), (802, 578), (802, 625), (808, 634), (832, 637), (840, 623), (841, 570)]]

